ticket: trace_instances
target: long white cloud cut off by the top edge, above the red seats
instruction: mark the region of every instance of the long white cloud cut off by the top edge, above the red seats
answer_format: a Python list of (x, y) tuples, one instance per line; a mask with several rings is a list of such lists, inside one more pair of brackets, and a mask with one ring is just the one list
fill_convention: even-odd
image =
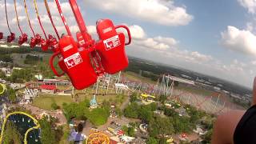
[(174, 1), (86, 0), (85, 2), (99, 10), (114, 12), (164, 26), (185, 26), (193, 19), (192, 15), (187, 14), (186, 7), (174, 6)]

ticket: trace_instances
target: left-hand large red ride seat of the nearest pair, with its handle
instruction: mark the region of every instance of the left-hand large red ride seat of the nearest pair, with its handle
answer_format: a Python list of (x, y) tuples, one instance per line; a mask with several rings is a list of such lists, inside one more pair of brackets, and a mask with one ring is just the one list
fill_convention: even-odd
[[(54, 71), (54, 74), (58, 74), (54, 68), (54, 57), (58, 54), (62, 55), (63, 60), (59, 62), (64, 62), (63, 71), (68, 74), (73, 86), (82, 90), (86, 87), (94, 84), (97, 81), (97, 74), (95, 74), (93, 66), (90, 64), (90, 56), (88, 50), (78, 50), (77, 43), (74, 42), (74, 39), (70, 36), (64, 36), (59, 41), (60, 51), (54, 53), (50, 58), (50, 66)], [(62, 66), (61, 63), (59, 65)]]

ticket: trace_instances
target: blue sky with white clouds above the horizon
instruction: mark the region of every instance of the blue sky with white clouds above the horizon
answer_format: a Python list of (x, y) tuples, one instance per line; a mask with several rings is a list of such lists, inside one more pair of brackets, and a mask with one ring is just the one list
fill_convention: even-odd
[[(78, 31), (66, 0), (62, 11), (73, 33)], [(18, 32), (13, 1), (8, 1), (11, 30)], [(59, 33), (66, 33), (54, 0), (48, 0)], [(34, 30), (42, 34), (32, 0), (27, 0)], [(95, 22), (110, 18), (130, 27), (128, 54), (179, 66), (250, 87), (256, 74), (256, 0), (78, 0), (91, 34)], [(38, 9), (47, 33), (54, 34), (46, 8)], [(0, 30), (8, 34), (3, 0)], [(31, 35), (23, 1), (18, 1), (22, 29)], [(95, 37), (96, 38), (96, 37)]]

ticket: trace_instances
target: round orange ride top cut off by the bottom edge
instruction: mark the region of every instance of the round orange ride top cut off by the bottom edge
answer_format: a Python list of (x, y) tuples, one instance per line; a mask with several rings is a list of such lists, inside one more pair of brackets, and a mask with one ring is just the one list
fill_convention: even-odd
[(86, 140), (86, 144), (109, 144), (110, 138), (101, 132), (92, 133)]

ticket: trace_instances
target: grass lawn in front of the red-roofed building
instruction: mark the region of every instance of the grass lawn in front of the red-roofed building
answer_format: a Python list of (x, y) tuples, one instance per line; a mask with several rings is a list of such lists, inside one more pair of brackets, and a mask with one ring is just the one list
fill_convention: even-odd
[(35, 98), (33, 101), (34, 106), (38, 106), (42, 109), (46, 110), (52, 110), (51, 104), (56, 102), (58, 106), (62, 107), (62, 103), (71, 103), (74, 102), (71, 98), (71, 96), (59, 96), (59, 95), (54, 95), (54, 94), (45, 94), (45, 95), (40, 95), (39, 98)]

